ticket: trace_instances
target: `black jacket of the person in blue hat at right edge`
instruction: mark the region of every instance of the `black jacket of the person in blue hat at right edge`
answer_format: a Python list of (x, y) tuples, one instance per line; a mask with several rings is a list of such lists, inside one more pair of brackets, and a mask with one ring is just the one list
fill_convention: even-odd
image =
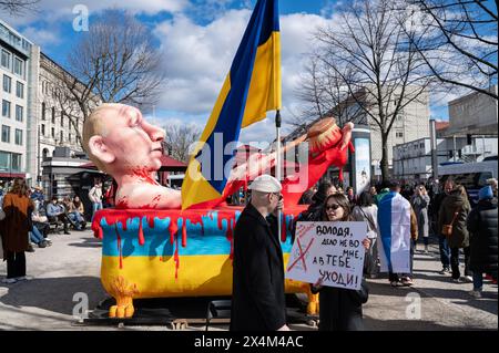
[(471, 271), (497, 271), (497, 200), (483, 200), (471, 210), (467, 227), (470, 233)]

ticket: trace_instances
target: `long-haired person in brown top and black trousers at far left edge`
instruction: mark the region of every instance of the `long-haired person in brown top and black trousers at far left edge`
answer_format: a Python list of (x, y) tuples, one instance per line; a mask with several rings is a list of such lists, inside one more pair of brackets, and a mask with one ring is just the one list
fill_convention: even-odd
[(29, 246), (29, 231), (34, 206), (28, 197), (28, 187), (23, 178), (16, 178), (12, 189), (3, 198), (6, 218), (1, 221), (0, 233), (3, 246), (3, 260), (7, 260), (6, 283), (16, 283), (26, 279), (24, 251)]

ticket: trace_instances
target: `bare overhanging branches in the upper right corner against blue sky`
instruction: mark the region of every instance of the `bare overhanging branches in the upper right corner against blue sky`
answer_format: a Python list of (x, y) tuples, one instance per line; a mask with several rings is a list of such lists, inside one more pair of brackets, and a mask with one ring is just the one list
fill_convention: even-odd
[[(442, 83), (498, 100), (498, 1), (408, 0), (414, 19), (426, 29), (414, 43), (431, 73)], [(406, 2), (406, 3), (407, 3)]]

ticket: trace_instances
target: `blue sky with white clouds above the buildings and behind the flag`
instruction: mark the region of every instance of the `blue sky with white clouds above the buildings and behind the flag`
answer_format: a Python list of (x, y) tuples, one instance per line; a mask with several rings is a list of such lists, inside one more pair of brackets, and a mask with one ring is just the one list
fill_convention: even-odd
[[(41, 0), (39, 12), (4, 18), (64, 64), (81, 32), (73, 30), (74, 6), (84, 4), (92, 15), (116, 7), (135, 13), (153, 31), (164, 55), (167, 85), (154, 116), (156, 123), (194, 123), (204, 126), (256, 0)], [(299, 75), (310, 37), (317, 25), (334, 19), (335, 1), (281, 0), (283, 49), (283, 120), (297, 114)], [(189, 45), (186, 44), (189, 43)], [(432, 117), (447, 118), (447, 100), (432, 102)], [(273, 135), (273, 116), (243, 131), (245, 142)], [(286, 129), (285, 129), (286, 132)], [(271, 138), (267, 138), (271, 139)]]

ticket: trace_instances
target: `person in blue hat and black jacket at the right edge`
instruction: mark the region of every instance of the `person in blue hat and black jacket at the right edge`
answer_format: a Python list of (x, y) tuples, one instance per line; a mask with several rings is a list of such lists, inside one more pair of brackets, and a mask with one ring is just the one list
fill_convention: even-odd
[(473, 290), (470, 294), (481, 297), (483, 273), (491, 273), (497, 279), (497, 199), (492, 188), (486, 186), (478, 193), (478, 206), (468, 216), (467, 227), (470, 235), (470, 263), (473, 272)]

